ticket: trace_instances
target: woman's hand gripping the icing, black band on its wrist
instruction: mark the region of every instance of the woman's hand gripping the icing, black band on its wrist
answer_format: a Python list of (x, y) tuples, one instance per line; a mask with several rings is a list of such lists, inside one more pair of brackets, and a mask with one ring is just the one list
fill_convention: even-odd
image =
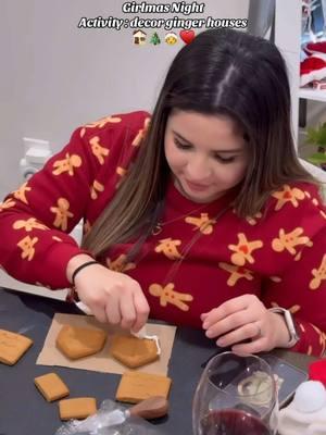
[[(76, 269), (72, 264), (83, 264), (91, 259), (88, 256), (84, 259), (77, 257), (70, 261), (67, 276)], [(99, 322), (120, 325), (136, 333), (147, 322), (149, 304), (140, 285), (128, 275), (95, 263), (76, 274), (75, 290)]]

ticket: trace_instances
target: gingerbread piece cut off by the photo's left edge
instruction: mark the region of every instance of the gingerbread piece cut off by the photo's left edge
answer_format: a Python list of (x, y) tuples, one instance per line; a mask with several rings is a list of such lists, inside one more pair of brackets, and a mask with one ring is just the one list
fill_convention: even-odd
[(24, 335), (0, 330), (0, 362), (15, 364), (32, 345), (33, 340)]

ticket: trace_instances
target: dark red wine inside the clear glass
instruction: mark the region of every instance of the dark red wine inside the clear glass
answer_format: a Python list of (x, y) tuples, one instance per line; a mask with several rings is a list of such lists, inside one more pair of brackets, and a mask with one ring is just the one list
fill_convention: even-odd
[(237, 409), (211, 411), (200, 424), (202, 435), (272, 435), (261, 420)]

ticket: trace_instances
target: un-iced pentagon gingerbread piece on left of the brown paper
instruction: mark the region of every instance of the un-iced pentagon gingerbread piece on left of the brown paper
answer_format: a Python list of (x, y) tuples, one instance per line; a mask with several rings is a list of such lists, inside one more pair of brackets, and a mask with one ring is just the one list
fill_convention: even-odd
[(105, 340), (106, 333), (102, 330), (64, 325), (55, 345), (67, 358), (76, 360), (99, 352)]

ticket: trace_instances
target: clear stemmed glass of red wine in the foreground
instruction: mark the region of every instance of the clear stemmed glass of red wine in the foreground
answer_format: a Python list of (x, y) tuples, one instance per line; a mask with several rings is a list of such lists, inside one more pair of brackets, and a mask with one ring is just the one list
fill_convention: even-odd
[(195, 435), (275, 435), (277, 385), (271, 366), (250, 355), (211, 359), (192, 403)]

